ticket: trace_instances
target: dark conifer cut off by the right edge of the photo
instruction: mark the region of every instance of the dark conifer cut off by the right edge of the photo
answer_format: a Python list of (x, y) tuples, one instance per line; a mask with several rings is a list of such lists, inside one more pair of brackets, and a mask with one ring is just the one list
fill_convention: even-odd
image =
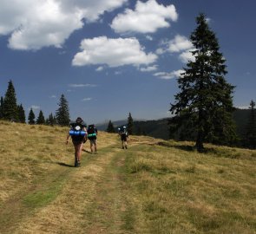
[(245, 145), (251, 149), (256, 149), (256, 109), (255, 101), (250, 102), (251, 112), (246, 127)]

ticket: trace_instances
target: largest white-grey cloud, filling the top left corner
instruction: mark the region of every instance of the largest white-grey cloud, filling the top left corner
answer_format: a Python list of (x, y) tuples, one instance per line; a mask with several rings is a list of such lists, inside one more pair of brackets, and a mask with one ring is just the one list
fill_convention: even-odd
[(83, 26), (82, 19), (94, 22), (127, 0), (2, 0), (0, 36), (10, 35), (10, 49), (62, 47), (70, 34)]

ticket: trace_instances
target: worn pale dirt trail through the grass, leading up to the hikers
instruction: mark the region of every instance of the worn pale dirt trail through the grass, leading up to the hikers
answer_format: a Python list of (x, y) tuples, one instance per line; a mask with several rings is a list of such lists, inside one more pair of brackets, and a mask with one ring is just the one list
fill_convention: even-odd
[[(101, 146), (99, 144), (99, 146)], [(43, 184), (6, 202), (0, 219), (6, 217), (1, 233), (132, 233), (126, 187), (118, 169), (126, 153), (120, 142), (102, 144), (96, 155), (82, 153), (82, 167), (56, 164)], [(27, 192), (61, 185), (56, 198), (42, 207), (23, 205)]]

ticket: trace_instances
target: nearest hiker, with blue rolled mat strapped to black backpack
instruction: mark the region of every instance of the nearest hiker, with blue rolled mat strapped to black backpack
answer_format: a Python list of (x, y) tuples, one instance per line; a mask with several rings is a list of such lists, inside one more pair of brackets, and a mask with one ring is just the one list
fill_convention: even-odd
[(68, 145), (69, 136), (71, 136), (75, 148), (75, 167), (81, 166), (82, 145), (86, 142), (88, 134), (86, 127), (81, 117), (77, 117), (75, 122), (70, 123), (66, 144)]

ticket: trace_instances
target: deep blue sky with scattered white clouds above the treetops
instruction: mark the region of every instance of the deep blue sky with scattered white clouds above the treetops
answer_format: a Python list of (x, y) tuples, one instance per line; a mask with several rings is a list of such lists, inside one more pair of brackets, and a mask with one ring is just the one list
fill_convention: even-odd
[(226, 58), (233, 104), (256, 99), (254, 0), (0, 0), (0, 95), (13, 81), (28, 114), (72, 120), (170, 116), (177, 75), (191, 56), (195, 17), (207, 15)]

